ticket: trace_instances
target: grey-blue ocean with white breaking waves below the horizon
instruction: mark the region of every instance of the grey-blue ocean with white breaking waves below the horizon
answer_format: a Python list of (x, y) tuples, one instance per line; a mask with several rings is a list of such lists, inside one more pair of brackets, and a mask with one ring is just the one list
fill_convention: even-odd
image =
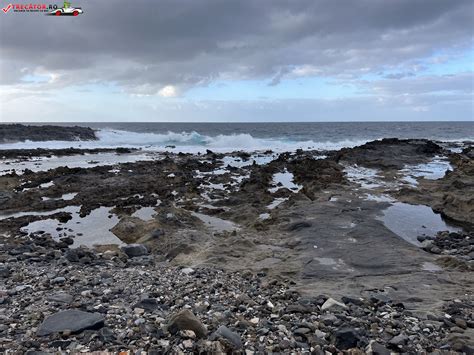
[[(29, 123), (38, 124), (38, 123)], [(47, 123), (43, 123), (47, 124)], [(312, 123), (163, 123), (87, 122), (48, 123), (88, 126), (97, 130), (94, 142), (18, 142), (0, 149), (108, 148), (216, 152), (233, 150), (291, 151), (340, 149), (381, 138), (427, 138), (473, 141), (474, 122), (312, 122)]]

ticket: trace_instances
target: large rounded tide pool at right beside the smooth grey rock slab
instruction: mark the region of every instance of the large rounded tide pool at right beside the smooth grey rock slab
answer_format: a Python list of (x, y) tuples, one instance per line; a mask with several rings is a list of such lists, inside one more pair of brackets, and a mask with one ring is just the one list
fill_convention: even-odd
[(447, 225), (439, 214), (428, 206), (396, 202), (379, 217), (385, 226), (407, 242), (420, 246), (419, 235), (435, 236), (440, 231), (457, 232), (461, 229)]

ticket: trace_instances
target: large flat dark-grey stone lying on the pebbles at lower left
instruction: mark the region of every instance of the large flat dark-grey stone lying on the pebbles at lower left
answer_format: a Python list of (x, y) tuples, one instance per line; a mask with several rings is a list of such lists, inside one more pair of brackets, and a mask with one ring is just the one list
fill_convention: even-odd
[(37, 334), (45, 336), (65, 331), (79, 333), (85, 329), (100, 329), (104, 321), (105, 318), (101, 314), (69, 309), (47, 317), (39, 326)]

